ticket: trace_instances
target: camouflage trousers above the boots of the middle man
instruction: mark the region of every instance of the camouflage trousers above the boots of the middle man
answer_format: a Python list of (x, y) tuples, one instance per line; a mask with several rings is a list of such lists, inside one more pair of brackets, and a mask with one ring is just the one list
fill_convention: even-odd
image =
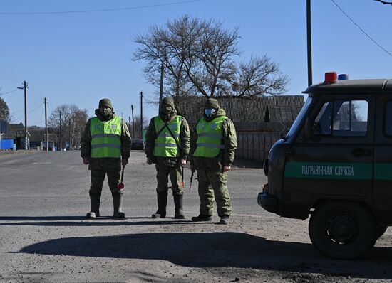
[(184, 190), (184, 188), (182, 188), (182, 172), (181, 166), (178, 165), (177, 161), (158, 158), (158, 162), (155, 164), (155, 169), (157, 169), (158, 193), (167, 190), (167, 183), (169, 182), (170, 177), (173, 195), (182, 195)]

